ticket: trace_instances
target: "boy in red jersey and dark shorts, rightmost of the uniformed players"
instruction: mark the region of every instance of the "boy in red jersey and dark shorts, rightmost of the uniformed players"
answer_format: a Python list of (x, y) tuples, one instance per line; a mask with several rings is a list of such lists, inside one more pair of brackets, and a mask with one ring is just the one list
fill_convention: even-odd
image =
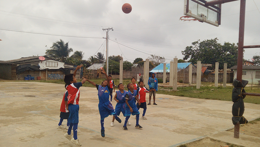
[(137, 96), (138, 96), (138, 99), (140, 101), (140, 105), (137, 103), (136, 104), (136, 107), (137, 109), (139, 110), (140, 108), (143, 108), (144, 111), (143, 111), (143, 115), (142, 115), (142, 119), (145, 119), (147, 120), (147, 118), (145, 117), (145, 112), (146, 112), (146, 100), (145, 100), (145, 95), (147, 92), (149, 92), (149, 90), (144, 87), (144, 82), (143, 81), (140, 81), (138, 82), (139, 84), (139, 88), (137, 88)]

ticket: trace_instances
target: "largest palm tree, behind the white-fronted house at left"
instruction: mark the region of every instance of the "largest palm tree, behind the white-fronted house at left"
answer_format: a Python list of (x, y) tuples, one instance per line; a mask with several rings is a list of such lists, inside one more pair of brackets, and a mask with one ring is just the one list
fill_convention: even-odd
[(64, 44), (64, 41), (60, 39), (60, 41), (53, 43), (51, 49), (47, 49), (45, 54), (50, 58), (66, 61), (72, 51), (73, 49), (69, 48), (68, 42)]

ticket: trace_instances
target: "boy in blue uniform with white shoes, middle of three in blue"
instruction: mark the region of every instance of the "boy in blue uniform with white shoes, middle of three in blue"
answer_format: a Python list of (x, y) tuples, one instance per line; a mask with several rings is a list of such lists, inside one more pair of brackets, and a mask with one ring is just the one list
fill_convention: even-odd
[[(118, 84), (119, 91), (116, 91), (114, 100), (117, 102), (115, 105), (116, 114), (119, 116), (120, 113), (122, 112), (125, 117), (125, 95), (126, 95), (127, 91), (125, 91), (124, 88), (125, 88), (125, 86), (122, 83)], [(114, 126), (114, 121), (115, 121), (115, 116), (113, 116), (113, 120), (110, 124), (111, 127)], [(128, 126), (131, 125), (131, 123), (129, 121), (126, 124)]]

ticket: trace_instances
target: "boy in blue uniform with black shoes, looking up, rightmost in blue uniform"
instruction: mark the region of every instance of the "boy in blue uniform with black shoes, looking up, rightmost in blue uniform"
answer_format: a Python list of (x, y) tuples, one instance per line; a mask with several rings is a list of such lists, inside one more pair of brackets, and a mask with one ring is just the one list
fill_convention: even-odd
[(142, 127), (139, 125), (139, 111), (135, 105), (134, 100), (136, 99), (136, 101), (138, 102), (138, 104), (140, 105), (140, 101), (139, 99), (136, 97), (137, 95), (137, 91), (135, 90), (135, 86), (133, 85), (133, 83), (128, 83), (127, 84), (127, 88), (129, 89), (128, 93), (125, 95), (125, 124), (123, 126), (123, 129), (125, 131), (128, 131), (127, 127), (126, 127), (126, 123), (128, 121), (128, 119), (130, 118), (130, 115), (136, 115), (136, 125), (135, 128), (139, 128), (142, 129)]

